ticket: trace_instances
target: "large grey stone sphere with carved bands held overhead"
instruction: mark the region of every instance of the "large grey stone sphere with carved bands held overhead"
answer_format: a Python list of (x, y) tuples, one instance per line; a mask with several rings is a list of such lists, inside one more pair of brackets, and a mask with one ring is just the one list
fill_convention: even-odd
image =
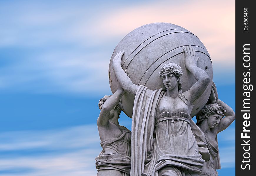
[[(212, 85), (212, 62), (205, 46), (196, 35), (188, 30), (170, 23), (152, 23), (134, 29), (127, 34), (115, 48), (109, 63), (109, 84), (112, 93), (117, 90), (116, 76), (112, 61), (117, 53), (124, 50), (122, 68), (127, 70), (134, 84), (145, 85), (151, 90), (165, 88), (158, 73), (162, 65), (170, 61), (180, 65), (183, 75), (180, 77), (182, 92), (191, 88), (196, 82), (194, 75), (185, 67), (183, 48), (191, 45), (199, 57), (197, 66), (207, 72), (210, 83), (204, 94), (195, 101), (191, 116), (195, 116), (207, 103)], [(125, 93), (120, 106), (127, 116), (132, 118), (134, 96)]]

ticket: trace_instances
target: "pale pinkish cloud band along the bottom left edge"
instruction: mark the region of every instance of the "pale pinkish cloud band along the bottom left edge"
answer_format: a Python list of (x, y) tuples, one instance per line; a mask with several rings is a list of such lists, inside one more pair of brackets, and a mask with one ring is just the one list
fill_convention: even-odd
[[(64, 154), (45, 154), (37, 157), (24, 156), (8, 159), (0, 159), (1, 170), (15, 170), (17, 168), (26, 168), (28, 172), (6, 173), (5, 175), (20, 175), (20, 176), (82, 176), (97, 175), (95, 169), (95, 154), (97, 150), (78, 150), (76, 152)], [(4, 175), (4, 174), (1, 174)]]

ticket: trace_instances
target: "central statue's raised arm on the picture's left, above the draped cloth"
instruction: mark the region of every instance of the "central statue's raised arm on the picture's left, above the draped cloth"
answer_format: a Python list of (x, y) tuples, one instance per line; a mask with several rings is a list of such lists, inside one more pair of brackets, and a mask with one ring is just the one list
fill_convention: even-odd
[(117, 80), (118, 80), (119, 84), (121, 85), (121, 87), (124, 89), (124, 91), (135, 96), (139, 86), (137, 86), (136, 84), (133, 84), (131, 79), (128, 77), (128, 75), (122, 69), (121, 58), (122, 58), (123, 54), (124, 54), (124, 51), (121, 51), (114, 57), (113, 70), (115, 71)]

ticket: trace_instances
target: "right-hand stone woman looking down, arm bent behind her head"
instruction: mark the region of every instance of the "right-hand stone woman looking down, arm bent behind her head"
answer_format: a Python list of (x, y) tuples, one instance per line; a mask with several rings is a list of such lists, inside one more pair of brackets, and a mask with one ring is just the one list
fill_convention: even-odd
[[(213, 94), (213, 95), (212, 95)], [(221, 169), (217, 134), (225, 130), (235, 120), (235, 112), (223, 101), (218, 99), (215, 84), (212, 85), (215, 104), (207, 104), (197, 114), (197, 125), (205, 134), (211, 158), (204, 163), (200, 176), (218, 176), (216, 169)], [(212, 98), (213, 99), (213, 98)], [(217, 100), (216, 100), (217, 99)], [(225, 118), (223, 118), (225, 116)]]

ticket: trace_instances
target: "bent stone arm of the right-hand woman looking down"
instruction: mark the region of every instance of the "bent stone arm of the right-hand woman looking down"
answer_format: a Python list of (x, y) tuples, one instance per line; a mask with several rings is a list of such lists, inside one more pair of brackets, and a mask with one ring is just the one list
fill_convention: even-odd
[(217, 99), (217, 104), (220, 104), (227, 112), (225, 113), (225, 117), (220, 120), (218, 133), (225, 130), (230, 124), (235, 120), (235, 112), (230, 108), (226, 103)]

